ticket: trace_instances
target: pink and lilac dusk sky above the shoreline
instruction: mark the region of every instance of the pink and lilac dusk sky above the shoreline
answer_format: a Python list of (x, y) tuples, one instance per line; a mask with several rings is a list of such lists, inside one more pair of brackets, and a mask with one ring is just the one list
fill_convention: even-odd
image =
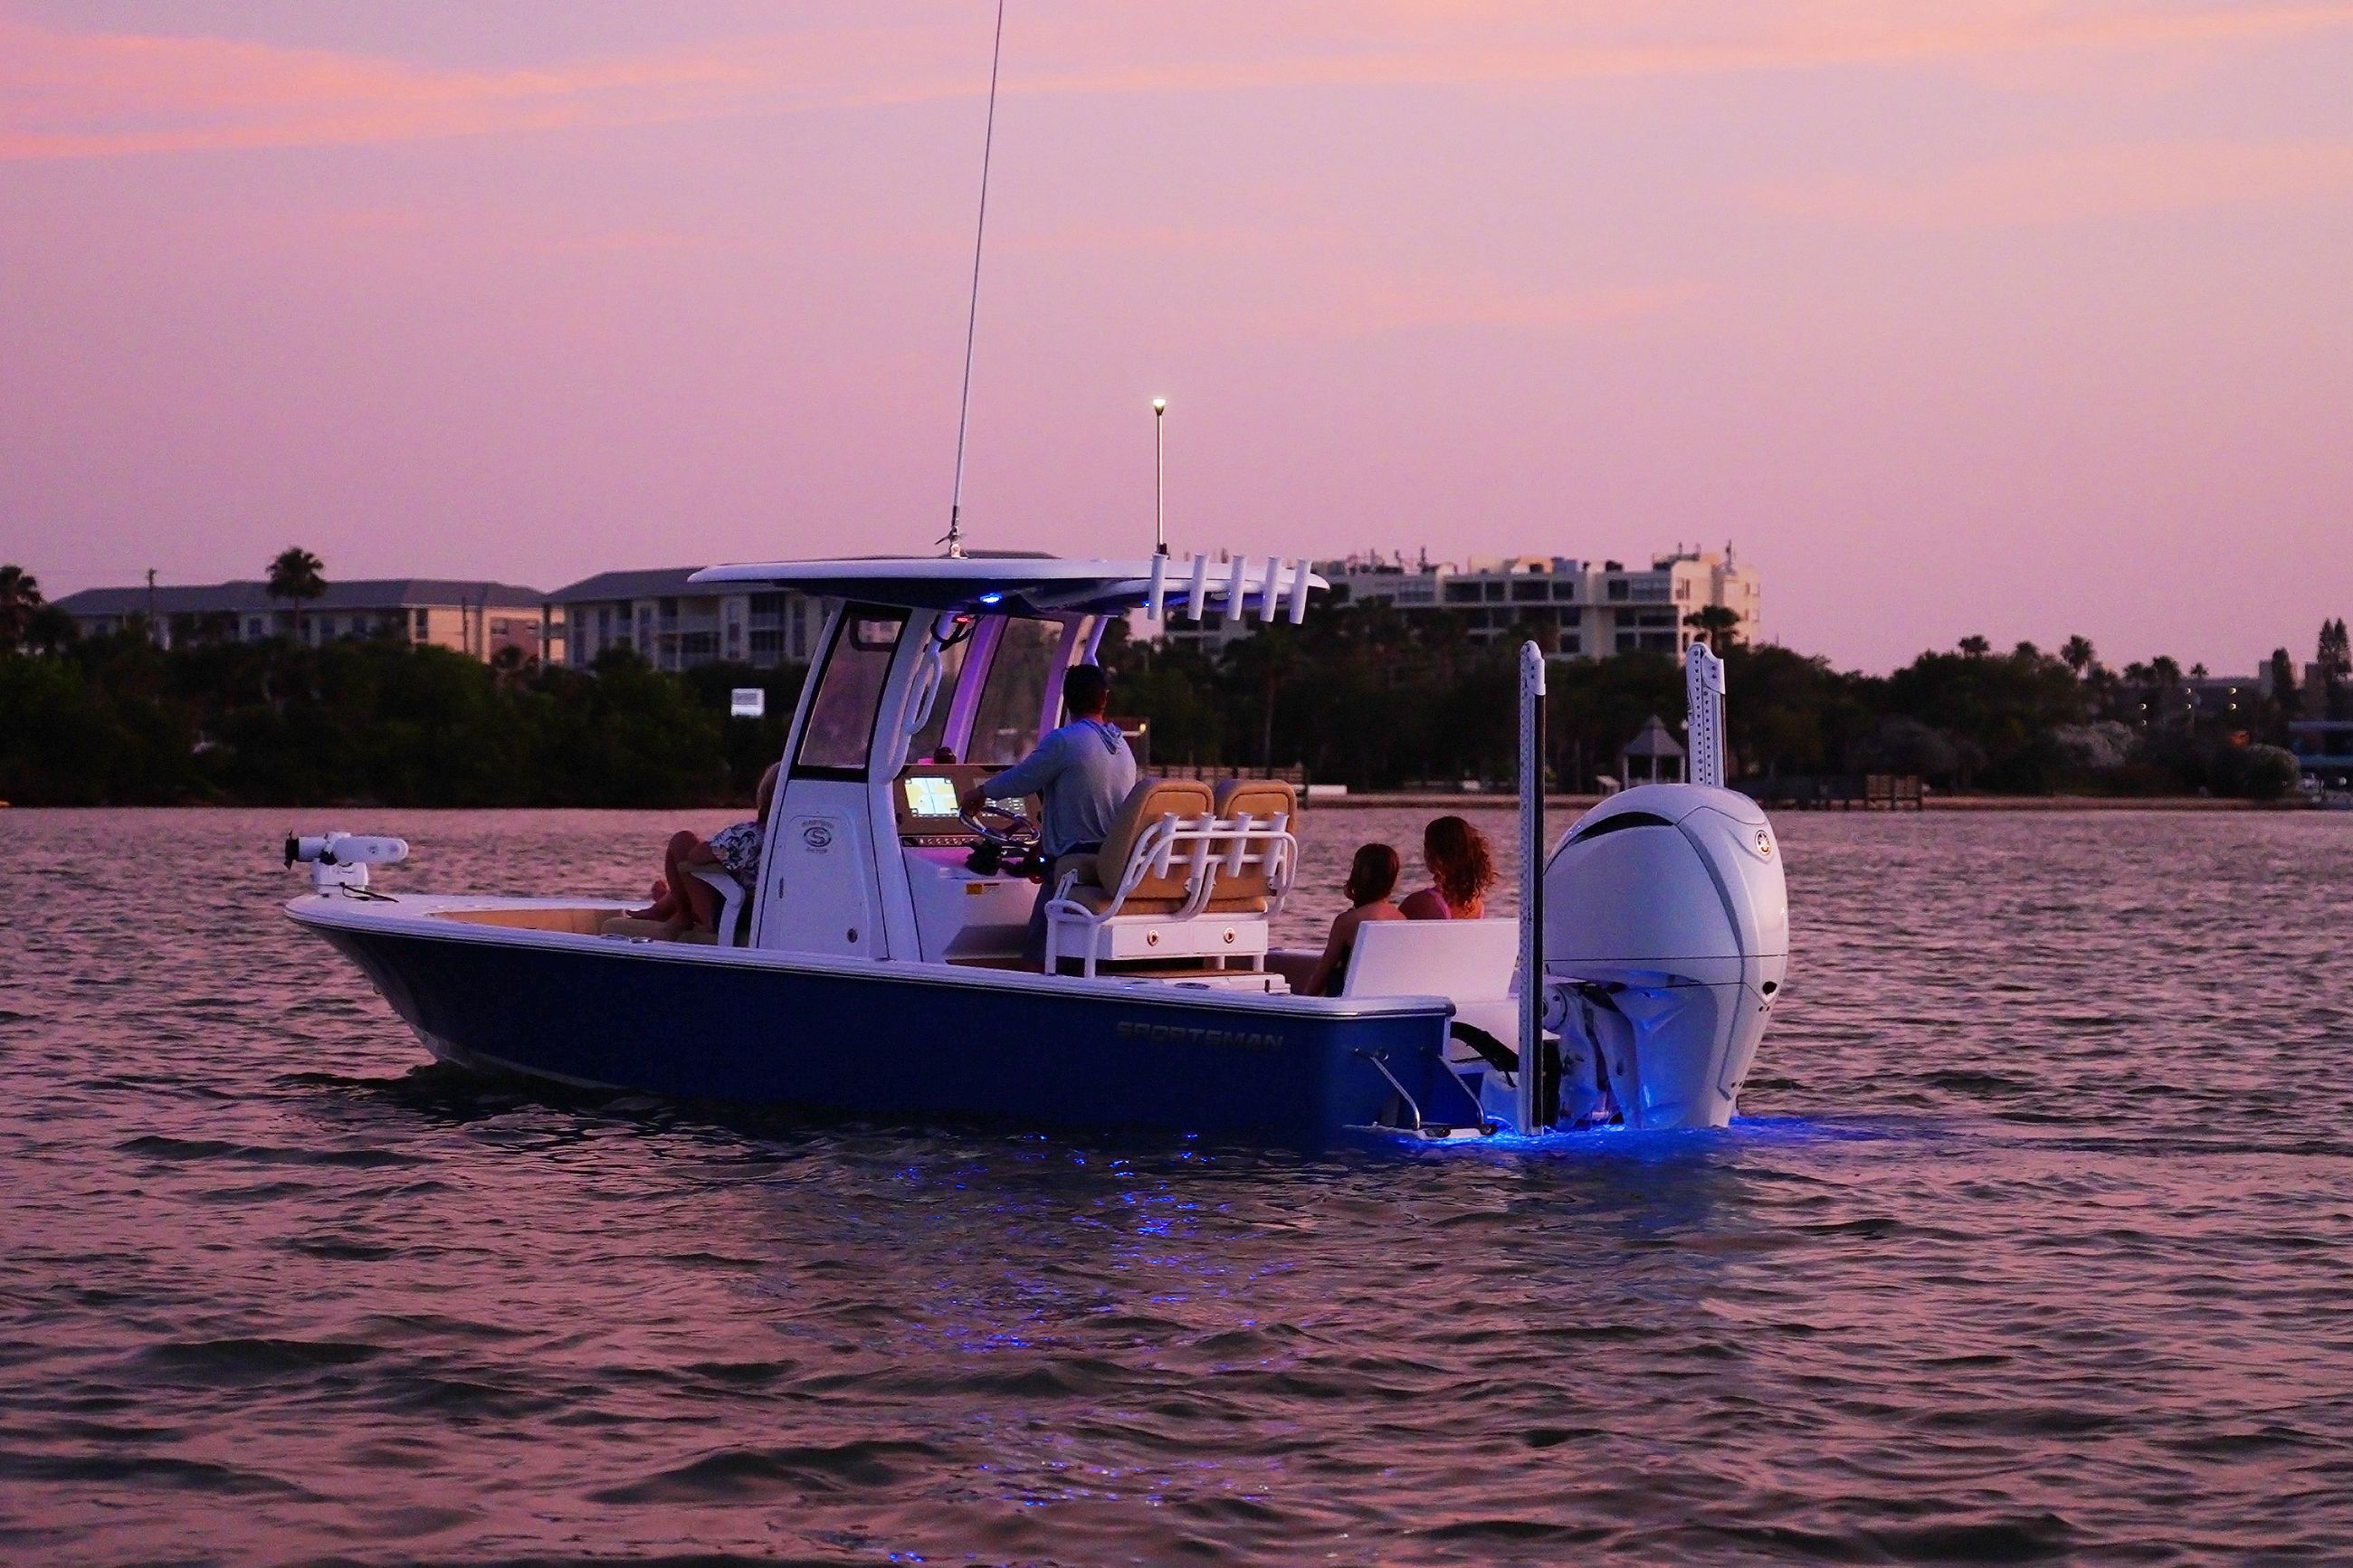
[[(927, 550), (988, 0), (0, 0), (52, 592)], [(2252, 670), (2353, 614), (2353, 0), (1012, 0), (965, 510)]]

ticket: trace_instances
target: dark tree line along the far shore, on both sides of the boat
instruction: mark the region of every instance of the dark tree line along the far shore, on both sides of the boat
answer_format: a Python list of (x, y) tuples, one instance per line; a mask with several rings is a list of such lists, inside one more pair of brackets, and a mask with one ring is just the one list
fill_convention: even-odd
[[(289, 552), (294, 555), (294, 552)], [(315, 557), (285, 597), (315, 597)], [(273, 574), (275, 578), (275, 574)], [(273, 590), (280, 588), (273, 581)], [(1939, 790), (2280, 795), (2301, 715), (2353, 717), (2344, 621), (2322, 628), (2313, 682), (2285, 649), (2271, 691), (2198, 701), (2172, 658), (2111, 668), (2089, 642), (1995, 651), (1965, 637), (1892, 675), (1835, 670), (1781, 646), (1718, 639), (1739, 776), (1918, 773)], [(1544, 642), (1548, 628), (1529, 628)], [(1471, 642), (1449, 616), (1339, 604), (1221, 654), (1132, 642), (1104, 663), (1115, 712), (1148, 722), (1160, 762), (1304, 766), (1355, 790), (1504, 780), (1515, 757), (1520, 637)], [(160, 649), (136, 623), (80, 639), (38, 583), (0, 567), (0, 799), (14, 804), (696, 806), (746, 799), (784, 750), (802, 670), (654, 670), (628, 651), (593, 670), (485, 665), (400, 637), (209, 642)], [(765, 719), (727, 693), (767, 691)], [(1652, 717), (1682, 722), (1666, 654), (1551, 670), (1555, 788), (1591, 790)]]

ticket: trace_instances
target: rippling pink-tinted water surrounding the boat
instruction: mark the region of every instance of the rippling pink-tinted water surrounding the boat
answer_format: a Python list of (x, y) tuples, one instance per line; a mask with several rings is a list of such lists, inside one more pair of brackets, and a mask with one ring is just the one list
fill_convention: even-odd
[(287, 823), (0, 811), (12, 1563), (2353, 1556), (2353, 818), (1786, 818), (1746, 1124), (1344, 1159), (428, 1067)]

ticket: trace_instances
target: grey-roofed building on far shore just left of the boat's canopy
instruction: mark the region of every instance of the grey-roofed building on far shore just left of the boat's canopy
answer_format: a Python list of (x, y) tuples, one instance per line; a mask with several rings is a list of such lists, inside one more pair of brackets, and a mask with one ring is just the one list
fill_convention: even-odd
[(565, 663), (586, 668), (607, 649), (633, 649), (659, 670), (713, 661), (769, 670), (809, 661), (826, 625), (824, 599), (689, 583), (696, 571), (600, 571), (546, 595), (548, 621), (562, 630)]

